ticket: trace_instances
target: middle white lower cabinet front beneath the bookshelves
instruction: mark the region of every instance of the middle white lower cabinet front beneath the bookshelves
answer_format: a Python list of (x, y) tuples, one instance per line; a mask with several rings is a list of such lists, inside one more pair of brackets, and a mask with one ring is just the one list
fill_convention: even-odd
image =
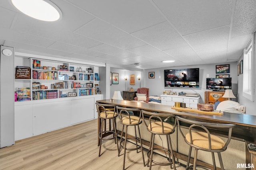
[(70, 101), (48, 102), (33, 105), (34, 135), (70, 125)]

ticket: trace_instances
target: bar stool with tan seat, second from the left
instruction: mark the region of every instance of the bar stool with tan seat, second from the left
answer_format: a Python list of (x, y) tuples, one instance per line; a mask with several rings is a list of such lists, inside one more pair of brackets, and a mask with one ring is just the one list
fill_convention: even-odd
[[(126, 107), (119, 107), (119, 106), (116, 106), (116, 109), (118, 110), (117, 112), (118, 112), (118, 117), (120, 118), (120, 123), (123, 125), (122, 133), (121, 133), (121, 140), (120, 140), (120, 147), (119, 147), (119, 152), (118, 152), (118, 156), (120, 156), (121, 147), (124, 149), (123, 170), (124, 170), (124, 164), (125, 164), (126, 150), (137, 150), (137, 153), (138, 153), (138, 149), (141, 149), (143, 165), (146, 166), (145, 160), (144, 160), (143, 148), (142, 148), (142, 141), (141, 141), (141, 136), (140, 136), (140, 127), (139, 127), (139, 125), (142, 123), (141, 113), (140, 113), (139, 117), (130, 115), (130, 113), (129, 113), (131, 111), (139, 111), (140, 112), (140, 109), (126, 108)], [(128, 126), (134, 127), (135, 137), (127, 138)], [(125, 137), (123, 139), (124, 127), (125, 127)], [(139, 137), (137, 137), (136, 127), (138, 128)], [(134, 140), (136, 143), (136, 147), (135, 148), (127, 148), (126, 147), (127, 139)], [(123, 141), (124, 141), (124, 145), (122, 145)], [(140, 146), (138, 145), (138, 142), (140, 143)]]

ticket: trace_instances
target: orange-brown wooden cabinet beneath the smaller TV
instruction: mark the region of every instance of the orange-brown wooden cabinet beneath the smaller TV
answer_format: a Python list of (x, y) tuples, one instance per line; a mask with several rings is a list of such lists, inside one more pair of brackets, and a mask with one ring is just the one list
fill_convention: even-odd
[(228, 100), (228, 98), (222, 98), (225, 92), (214, 92), (214, 91), (206, 91), (204, 92), (204, 103), (214, 104), (217, 101)]

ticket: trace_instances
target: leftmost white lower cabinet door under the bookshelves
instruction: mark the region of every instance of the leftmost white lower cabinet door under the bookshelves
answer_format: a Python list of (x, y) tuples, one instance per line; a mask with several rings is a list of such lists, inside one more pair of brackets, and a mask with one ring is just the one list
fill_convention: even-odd
[(33, 136), (32, 105), (15, 106), (15, 141)]

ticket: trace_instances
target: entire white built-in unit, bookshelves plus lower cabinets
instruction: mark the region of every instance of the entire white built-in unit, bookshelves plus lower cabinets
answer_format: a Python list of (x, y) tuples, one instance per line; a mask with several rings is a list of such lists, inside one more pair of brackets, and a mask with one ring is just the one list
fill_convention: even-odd
[(14, 103), (15, 141), (97, 118), (95, 102), (102, 100), (103, 94), (94, 93), (95, 84), (100, 85), (94, 76), (104, 65), (72, 62), (15, 54), (14, 66), (26, 73), (14, 79), (14, 96), (22, 101)]

